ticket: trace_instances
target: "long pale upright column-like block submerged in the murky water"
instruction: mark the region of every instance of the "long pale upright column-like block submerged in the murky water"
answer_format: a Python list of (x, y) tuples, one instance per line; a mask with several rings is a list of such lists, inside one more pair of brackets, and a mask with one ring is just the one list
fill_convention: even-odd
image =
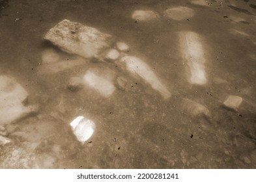
[(195, 32), (179, 32), (180, 52), (190, 70), (189, 82), (204, 85), (207, 82), (205, 57), (200, 36)]

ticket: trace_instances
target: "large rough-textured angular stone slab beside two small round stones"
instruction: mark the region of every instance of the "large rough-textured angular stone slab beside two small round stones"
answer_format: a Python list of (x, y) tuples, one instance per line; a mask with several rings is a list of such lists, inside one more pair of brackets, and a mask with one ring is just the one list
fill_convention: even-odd
[(102, 51), (110, 47), (113, 40), (109, 34), (68, 19), (50, 29), (44, 39), (50, 40), (67, 53), (85, 58), (98, 57)]

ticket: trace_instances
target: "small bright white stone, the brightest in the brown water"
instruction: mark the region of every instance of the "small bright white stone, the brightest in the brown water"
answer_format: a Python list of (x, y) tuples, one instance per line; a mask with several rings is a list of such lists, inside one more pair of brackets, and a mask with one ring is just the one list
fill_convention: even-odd
[(70, 126), (74, 135), (76, 135), (76, 138), (82, 144), (91, 138), (95, 130), (94, 122), (84, 116), (78, 116), (70, 123)]

